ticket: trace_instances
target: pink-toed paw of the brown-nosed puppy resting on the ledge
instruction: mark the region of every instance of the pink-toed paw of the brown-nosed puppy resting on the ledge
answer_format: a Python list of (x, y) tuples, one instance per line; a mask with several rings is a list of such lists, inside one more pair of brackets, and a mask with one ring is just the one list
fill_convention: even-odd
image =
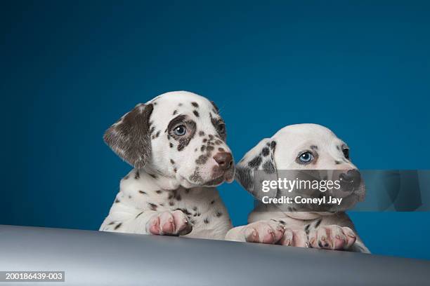
[(157, 236), (184, 236), (192, 230), (193, 225), (181, 210), (159, 212), (146, 224), (146, 231)]

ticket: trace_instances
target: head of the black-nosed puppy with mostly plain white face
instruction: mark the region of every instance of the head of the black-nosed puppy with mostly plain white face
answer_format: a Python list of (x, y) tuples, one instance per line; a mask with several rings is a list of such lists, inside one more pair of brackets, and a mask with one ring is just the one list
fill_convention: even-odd
[[(308, 211), (343, 211), (365, 196), (365, 185), (360, 172), (351, 162), (347, 144), (321, 125), (297, 124), (282, 128), (245, 154), (236, 168), (237, 181), (259, 199), (267, 195), (288, 196), (287, 191), (280, 189), (275, 193), (263, 193), (257, 187), (261, 179), (273, 181), (288, 177), (290, 180), (317, 180), (321, 186), (323, 181), (338, 180), (340, 189), (321, 192), (305, 188), (294, 192), (294, 196), (343, 198), (340, 206), (325, 205), (322, 209), (316, 205), (306, 205)], [(296, 206), (292, 209), (304, 210), (304, 205)]]

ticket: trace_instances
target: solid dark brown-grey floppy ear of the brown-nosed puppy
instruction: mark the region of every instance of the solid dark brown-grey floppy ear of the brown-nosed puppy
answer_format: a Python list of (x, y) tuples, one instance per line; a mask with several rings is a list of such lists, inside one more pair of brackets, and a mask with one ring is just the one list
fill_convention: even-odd
[(106, 130), (107, 145), (134, 168), (143, 168), (151, 156), (152, 104), (138, 104)]

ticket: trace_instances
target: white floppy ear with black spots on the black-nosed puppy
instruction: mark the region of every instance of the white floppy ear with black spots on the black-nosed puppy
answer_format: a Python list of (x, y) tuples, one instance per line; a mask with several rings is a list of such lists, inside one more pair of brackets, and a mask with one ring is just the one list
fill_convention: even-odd
[(274, 198), (278, 189), (263, 192), (263, 181), (278, 180), (275, 164), (276, 141), (266, 138), (247, 152), (236, 165), (235, 179), (255, 198), (261, 200), (263, 196)]

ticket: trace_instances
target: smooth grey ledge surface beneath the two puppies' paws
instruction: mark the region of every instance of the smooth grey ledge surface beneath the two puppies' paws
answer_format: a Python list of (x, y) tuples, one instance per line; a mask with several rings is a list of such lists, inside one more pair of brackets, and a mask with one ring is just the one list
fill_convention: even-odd
[(1, 225), (0, 271), (65, 271), (65, 282), (33, 283), (63, 286), (430, 285), (430, 261), (424, 260)]

